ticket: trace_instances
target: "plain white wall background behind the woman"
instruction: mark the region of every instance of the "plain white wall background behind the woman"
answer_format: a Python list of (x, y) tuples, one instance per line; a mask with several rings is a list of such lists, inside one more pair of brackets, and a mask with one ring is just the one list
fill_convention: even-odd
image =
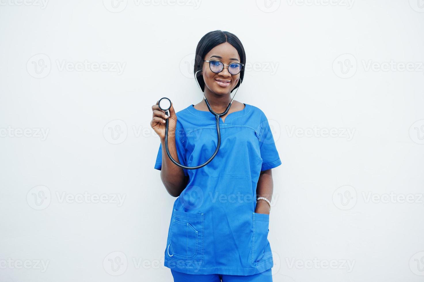
[(0, 282), (172, 281), (151, 106), (201, 101), (217, 29), (283, 162), (273, 280), (422, 281), (422, 0), (27, 1), (0, 0)]

